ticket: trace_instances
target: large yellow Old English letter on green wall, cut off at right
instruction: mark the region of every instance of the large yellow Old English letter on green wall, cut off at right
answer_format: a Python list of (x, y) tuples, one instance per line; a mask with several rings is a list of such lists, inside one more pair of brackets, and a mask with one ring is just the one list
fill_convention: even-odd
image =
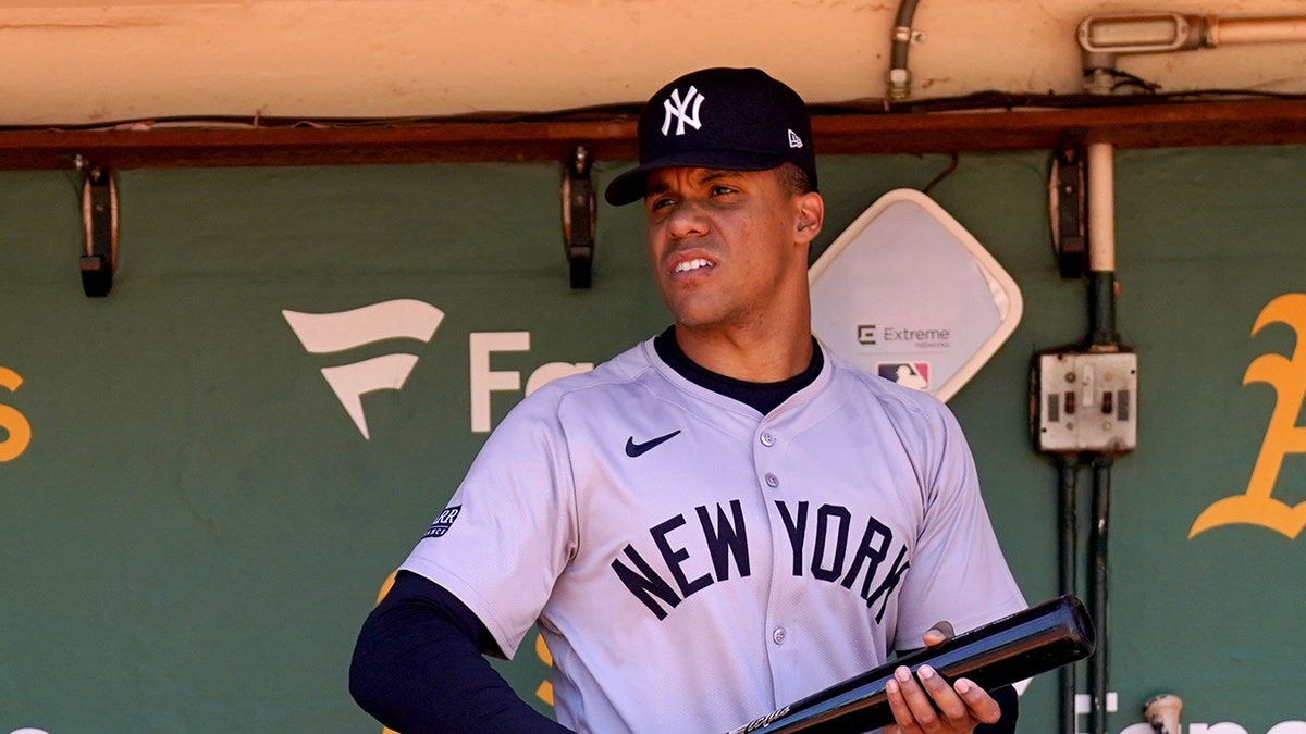
[(1255, 336), (1267, 324), (1288, 324), (1297, 333), (1292, 358), (1262, 354), (1247, 366), (1242, 384), (1266, 383), (1275, 388), (1279, 400), (1266, 427), (1266, 439), (1251, 470), (1247, 491), (1224, 498), (1205, 508), (1188, 537), (1220, 525), (1260, 525), (1296, 538), (1306, 528), (1306, 502), (1294, 507), (1271, 496), (1284, 457), (1306, 453), (1306, 426), (1297, 424), (1297, 415), (1306, 404), (1306, 294), (1290, 293), (1271, 300), (1251, 328)]

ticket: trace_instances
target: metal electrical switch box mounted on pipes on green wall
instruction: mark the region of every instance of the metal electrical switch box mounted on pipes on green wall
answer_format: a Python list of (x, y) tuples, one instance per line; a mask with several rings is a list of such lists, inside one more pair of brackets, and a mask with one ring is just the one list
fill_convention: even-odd
[(1138, 447), (1138, 354), (1055, 351), (1034, 359), (1029, 427), (1038, 451), (1119, 455)]

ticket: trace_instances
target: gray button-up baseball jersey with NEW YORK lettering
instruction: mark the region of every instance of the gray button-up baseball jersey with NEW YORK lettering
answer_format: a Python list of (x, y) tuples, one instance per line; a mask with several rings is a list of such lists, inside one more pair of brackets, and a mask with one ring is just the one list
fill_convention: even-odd
[(643, 342), (522, 400), (404, 563), (512, 657), (532, 624), (558, 720), (726, 731), (1025, 607), (952, 414), (824, 350), (761, 417)]

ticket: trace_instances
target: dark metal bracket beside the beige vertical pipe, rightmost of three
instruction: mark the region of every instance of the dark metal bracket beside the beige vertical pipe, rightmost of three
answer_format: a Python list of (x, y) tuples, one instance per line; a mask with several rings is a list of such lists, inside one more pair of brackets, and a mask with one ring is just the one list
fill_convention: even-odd
[(1085, 171), (1088, 167), (1084, 131), (1066, 131), (1053, 152), (1047, 182), (1049, 219), (1053, 248), (1062, 278), (1083, 278), (1088, 272)]

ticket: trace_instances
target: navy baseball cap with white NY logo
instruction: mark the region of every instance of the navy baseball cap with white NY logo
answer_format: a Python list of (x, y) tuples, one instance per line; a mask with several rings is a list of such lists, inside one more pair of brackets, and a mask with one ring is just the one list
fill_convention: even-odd
[(639, 167), (607, 184), (609, 204), (644, 199), (657, 168), (765, 171), (788, 162), (816, 189), (807, 104), (761, 69), (701, 69), (663, 86), (640, 112), (639, 145)]

